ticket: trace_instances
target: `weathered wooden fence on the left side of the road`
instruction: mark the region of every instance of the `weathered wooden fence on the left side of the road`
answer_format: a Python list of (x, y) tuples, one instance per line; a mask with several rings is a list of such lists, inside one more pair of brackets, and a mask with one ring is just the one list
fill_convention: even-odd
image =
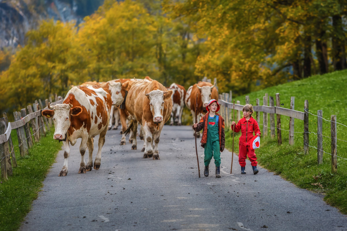
[[(57, 100), (55, 102), (50, 104), (55, 105), (64, 101), (64, 99), (61, 99), (61, 96), (57, 96), (56, 99)], [(39, 142), (40, 137), (45, 136), (46, 127), (48, 131), (50, 130), (50, 126), (52, 124), (51, 119), (43, 119), (41, 115), (42, 110), (48, 109), (48, 100), (45, 100), (44, 108), (41, 100), (39, 100), (38, 103), (36, 102), (33, 104), (34, 112), (31, 105), (27, 106), (29, 114), (26, 114), (25, 108), (20, 110), (20, 112), (15, 111), (13, 114), (16, 121), (14, 122), (8, 122), (6, 113), (3, 113), (3, 118), (0, 118), (1, 179), (8, 179), (8, 176), (12, 175), (12, 165), (13, 167), (17, 167), (17, 160), (11, 139), (11, 131), (14, 129), (17, 130), (20, 156), (25, 156), (29, 154), (29, 148), (33, 146), (33, 142)], [(33, 134), (31, 134), (30, 127)], [(32, 139), (32, 136), (34, 139)]]

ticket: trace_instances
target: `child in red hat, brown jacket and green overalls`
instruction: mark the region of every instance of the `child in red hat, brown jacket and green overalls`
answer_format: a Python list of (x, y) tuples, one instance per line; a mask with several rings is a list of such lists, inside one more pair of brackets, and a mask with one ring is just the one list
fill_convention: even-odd
[(204, 157), (204, 176), (209, 176), (209, 164), (213, 157), (214, 164), (216, 165), (216, 178), (220, 178), (220, 152), (225, 147), (225, 135), (224, 135), (224, 119), (216, 113), (219, 111), (218, 101), (211, 99), (209, 104), (206, 106), (206, 113), (199, 123), (193, 124), (193, 129), (202, 131), (201, 147), (203, 147)]

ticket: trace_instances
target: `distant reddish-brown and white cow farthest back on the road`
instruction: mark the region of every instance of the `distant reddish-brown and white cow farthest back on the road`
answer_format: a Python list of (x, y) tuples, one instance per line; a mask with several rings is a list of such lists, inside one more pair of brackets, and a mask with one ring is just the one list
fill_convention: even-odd
[(177, 83), (172, 83), (169, 90), (172, 90), (172, 112), (170, 125), (174, 125), (174, 122), (176, 122), (177, 125), (182, 125), (182, 113), (185, 105), (184, 99), (187, 92), (183, 86)]

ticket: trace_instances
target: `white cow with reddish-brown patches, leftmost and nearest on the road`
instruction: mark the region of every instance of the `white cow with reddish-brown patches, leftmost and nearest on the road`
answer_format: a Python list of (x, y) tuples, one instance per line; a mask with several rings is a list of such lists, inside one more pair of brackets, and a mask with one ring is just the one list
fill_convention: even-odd
[[(100, 168), (101, 148), (105, 142), (105, 135), (110, 117), (111, 95), (108, 89), (99, 85), (73, 87), (66, 95), (62, 104), (49, 105), (42, 115), (54, 121), (53, 139), (63, 141), (64, 165), (59, 176), (66, 176), (70, 146), (76, 144), (77, 138), (82, 138), (79, 151), (81, 164), (78, 173), (91, 171), (93, 167), (94, 136), (99, 136), (99, 149), (94, 160), (94, 169)], [(88, 147), (88, 162), (84, 161), (84, 154)]]

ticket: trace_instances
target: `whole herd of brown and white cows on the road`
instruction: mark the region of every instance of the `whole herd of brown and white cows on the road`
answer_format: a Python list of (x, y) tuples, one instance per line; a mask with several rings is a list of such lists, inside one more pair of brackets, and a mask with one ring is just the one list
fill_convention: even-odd
[[(206, 113), (206, 105), (210, 99), (218, 99), (215, 84), (198, 82), (186, 91), (183, 86), (176, 83), (166, 88), (148, 76), (144, 79), (94, 81), (73, 86), (62, 104), (48, 104), (48, 110), (42, 111), (43, 116), (53, 120), (55, 129), (53, 139), (62, 141), (64, 145), (64, 165), (59, 176), (67, 175), (69, 145), (75, 145), (78, 138), (82, 139), (79, 146), (81, 163), (78, 173), (91, 171), (92, 167), (100, 168), (101, 148), (107, 130), (112, 128), (113, 120), (114, 129), (117, 129), (118, 120), (121, 123), (120, 145), (125, 145), (126, 136), (129, 134), (132, 149), (137, 149), (137, 126), (140, 124), (139, 137), (144, 140), (143, 158), (159, 159), (158, 143), (164, 123), (171, 116), (171, 125), (174, 122), (181, 125), (185, 105), (191, 110), (195, 123), (196, 103), (197, 116), (200, 120)], [(96, 135), (99, 135), (99, 148), (93, 164), (92, 154)], [(89, 154), (87, 165), (84, 160), (86, 149)]]

